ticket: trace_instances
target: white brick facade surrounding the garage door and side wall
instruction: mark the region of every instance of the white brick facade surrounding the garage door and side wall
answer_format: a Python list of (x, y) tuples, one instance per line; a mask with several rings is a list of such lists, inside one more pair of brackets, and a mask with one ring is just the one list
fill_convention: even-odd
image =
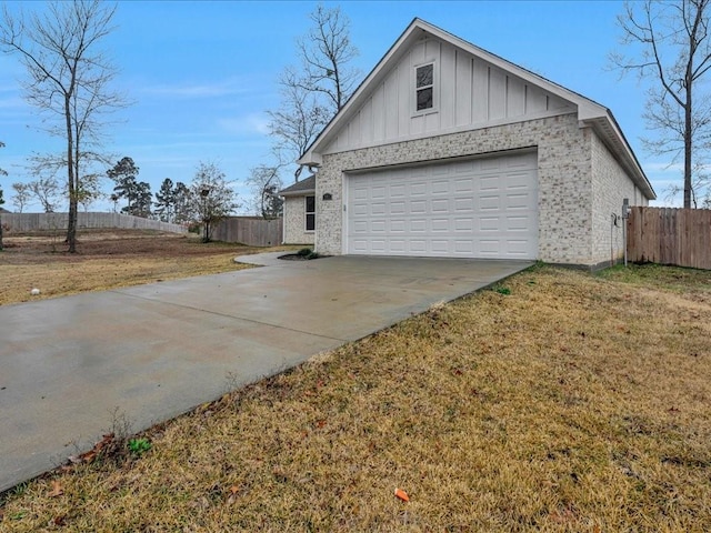
[[(620, 214), (622, 198), (634, 203), (635, 188), (597, 133), (579, 127), (575, 113), (323, 154), (316, 249), (342, 253), (349, 171), (532, 148), (538, 151), (538, 259), (591, 266), (608, 261), (611, 213)], [(322, 200), (324, 193), (332, 200)], [(621, 245), (621, 238), (615, 242)]]

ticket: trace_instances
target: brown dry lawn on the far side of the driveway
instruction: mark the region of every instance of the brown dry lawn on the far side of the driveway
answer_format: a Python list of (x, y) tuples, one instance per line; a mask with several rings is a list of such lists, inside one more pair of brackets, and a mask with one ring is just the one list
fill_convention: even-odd
[[(62, 238), (50, 232), (6, 235), (0, 305), (240, 270), (249, 265), (234, 263), (236, 255), (291, 249), (203, 244), (194, 234), (82, 230), (79, 253), (70, 254)], [(39, 296), (30, 295), (33, 288), (40, 289)]]

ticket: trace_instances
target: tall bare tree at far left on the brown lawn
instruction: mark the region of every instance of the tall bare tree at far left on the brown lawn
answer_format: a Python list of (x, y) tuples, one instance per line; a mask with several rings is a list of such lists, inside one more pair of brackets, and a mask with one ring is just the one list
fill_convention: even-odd
[(6, 7), (0, 24), (0, 47), (19, 54), (27, 69), (27, 100), (52, 119), (47, 131), (67, 141), (60, 160), (67, 169), (70, 252), (77, 251), (79, 193), (87, 175), (82, 162), (101, 145), (103, 113), (124, 105), (109, 90), (117, 70), (99, 49), (113, 30), (116, 9), (99, 0), (51, 2), (42, 14), (16, 19)]

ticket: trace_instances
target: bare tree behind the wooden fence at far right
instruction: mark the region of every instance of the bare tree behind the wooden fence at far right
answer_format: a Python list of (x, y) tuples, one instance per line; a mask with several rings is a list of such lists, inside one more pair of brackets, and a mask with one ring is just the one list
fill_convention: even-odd
[(694, 170), (703, 169), (704, 152), (711, 148), (711, 98), (703, 92), (711, 69), (710, 1), (627, 3), (618, 22), (622, 43), (635, 50), (610, 56), (622, 74), (654, 80), (644, 119), (658, 134), (643, 142), (651, 153), (671, 155), (671, 163), (683, 157), (684, 208), (695, 207), (701, 189), (709, 187), (704, 173), (694, 178)]

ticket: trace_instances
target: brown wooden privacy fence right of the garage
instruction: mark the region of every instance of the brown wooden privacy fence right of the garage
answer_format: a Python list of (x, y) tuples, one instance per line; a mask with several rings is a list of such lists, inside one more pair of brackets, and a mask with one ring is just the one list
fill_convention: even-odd
[(627, 250), (632, 262), (711, 269), (711, 210), (630, 209)]

